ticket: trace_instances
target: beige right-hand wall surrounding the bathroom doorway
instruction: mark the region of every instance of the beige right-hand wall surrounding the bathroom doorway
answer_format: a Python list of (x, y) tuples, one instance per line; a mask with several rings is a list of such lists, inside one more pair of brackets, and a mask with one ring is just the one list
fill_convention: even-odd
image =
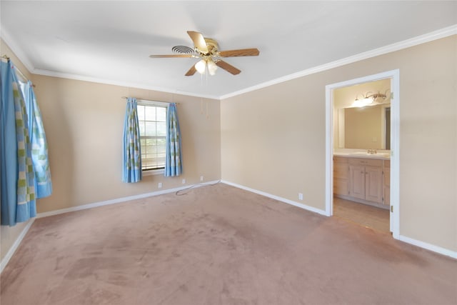
[(450, 36), (224, 99), (222, 179), (324, 210), (325, 86), (399, 69), (399, 233), (456, 251), (456, 44)]

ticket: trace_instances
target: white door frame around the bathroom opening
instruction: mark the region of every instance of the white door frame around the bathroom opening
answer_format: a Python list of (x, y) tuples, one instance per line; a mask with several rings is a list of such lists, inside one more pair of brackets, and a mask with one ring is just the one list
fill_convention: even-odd
[(326, 86), (326, 216), (333, 215), (333, 90), (356, 84), (391, 79), (391, 209), (394, 239), (400, 236), (400, 70), (363, 76)]

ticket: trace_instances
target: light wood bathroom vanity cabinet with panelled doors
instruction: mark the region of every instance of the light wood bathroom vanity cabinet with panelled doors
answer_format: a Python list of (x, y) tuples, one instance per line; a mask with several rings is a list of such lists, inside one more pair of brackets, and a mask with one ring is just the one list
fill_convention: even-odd
[(388, 209), (390, 161), (333, 156), (333, 194), (343, 199)]

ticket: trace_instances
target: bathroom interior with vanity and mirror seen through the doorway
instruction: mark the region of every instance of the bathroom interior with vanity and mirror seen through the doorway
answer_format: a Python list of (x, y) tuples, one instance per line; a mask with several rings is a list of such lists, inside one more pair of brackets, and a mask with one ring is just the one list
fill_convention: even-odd
[(390, 231), (391, 79), (333, 91), (333, 215)]

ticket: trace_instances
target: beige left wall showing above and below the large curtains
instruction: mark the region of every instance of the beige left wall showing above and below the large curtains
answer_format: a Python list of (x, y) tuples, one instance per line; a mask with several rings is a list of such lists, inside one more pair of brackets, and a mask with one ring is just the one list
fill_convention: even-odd
[[(3, 39), (0, 39), (0, 56), (9, 56), (14, 65), (19, 68), (19, 70), (30, 79), (31, 75), (26, 69), (24, 64), (16, 57), (16, 54), (9, 49), (9, 46), (5, 44)], [(11, 246), (14, 244), (14, 241), (19, 237), (24, 228), (29, 224), (29, 221), (21, 222), (16, 224), (16, 226), (0, 226), (0, 260), (4, 259), (5, 255), (8, 253)]]

